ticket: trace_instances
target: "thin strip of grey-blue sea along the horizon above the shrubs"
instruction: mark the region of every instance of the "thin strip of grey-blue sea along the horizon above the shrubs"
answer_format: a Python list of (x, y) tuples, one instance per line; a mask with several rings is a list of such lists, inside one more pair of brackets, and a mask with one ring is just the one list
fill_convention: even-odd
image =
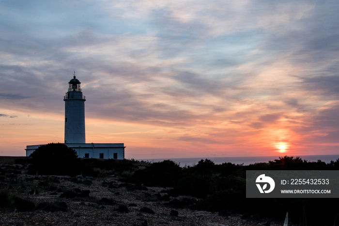
[[(281, 156), (280, 156), (281, 157)], [(339, 155), (304, 155), (304, 156), (294, 156), (300, 157), (302, 160), (307, 161), (324, 161), (325, 163), (329, 163), (330, 161), (336, 161), (339, 159)], [(185, 166), (194, 166), (198, 164), (198, 161), (209, 159), (213, 161), (215, 164), (222, 164), (224, 162), (231, 162), (233, 164), (254, 164), (256, 162), (268, 162), (279, 159), (279, 156), (253, 156), (253, 157), (204, 157), (204, 158), (174, 158), (174, 159), (138, 159), (139, 161), (149, 161), (149, 162), (159, 162), (164, 160), (172, 160), (179, 164), (181, 167)]]

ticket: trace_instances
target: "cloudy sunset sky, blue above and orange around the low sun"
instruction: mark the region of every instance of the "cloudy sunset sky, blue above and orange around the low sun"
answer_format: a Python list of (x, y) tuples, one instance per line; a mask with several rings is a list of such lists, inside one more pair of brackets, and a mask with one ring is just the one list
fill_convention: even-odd
[(339, 154), (338, 0), (2, 0), (0, 155), (86, 142), (125, 158)]

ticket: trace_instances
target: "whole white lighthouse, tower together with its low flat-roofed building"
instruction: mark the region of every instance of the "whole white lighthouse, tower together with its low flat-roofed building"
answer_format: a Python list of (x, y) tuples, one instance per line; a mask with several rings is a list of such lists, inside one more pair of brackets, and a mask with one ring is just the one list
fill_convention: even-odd
[[(124, 159), (125, 146), (120, 144), (86, 144), (85, 96), (82, 96), (80, 81), (74, 77), (68, 82), (65, 101), (65, 145), (77, 151), (79, 158)], [(27, 145), (26, 156), (30, 156), (41, 145)]]

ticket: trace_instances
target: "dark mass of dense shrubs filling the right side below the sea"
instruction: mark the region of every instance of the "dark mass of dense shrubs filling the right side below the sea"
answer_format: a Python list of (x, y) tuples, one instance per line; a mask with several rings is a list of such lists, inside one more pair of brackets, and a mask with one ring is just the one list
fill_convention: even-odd
[(171, 196), (186, 194), (200, 198), (199, 202), (172, 199), (168, 205), (176, 209), (190, 207), (226, 216), (240, 213), (244, 219), (275, 217), (282, 222), (288, 212), (290, 221), (297, 224), (307, 221), (308, 225), (333, 225), (336, 221), (339, 215), (336, 198), (246, 198), (246, 170), (339, 170), (339, 160), (326, 164), (285, 156), (268, 163), (242, 165), (215, 164), (206, 159), (185, 168), (166, 160), (138, 170), (125, 180), (137, 185), (172, 187), (168, 191)]

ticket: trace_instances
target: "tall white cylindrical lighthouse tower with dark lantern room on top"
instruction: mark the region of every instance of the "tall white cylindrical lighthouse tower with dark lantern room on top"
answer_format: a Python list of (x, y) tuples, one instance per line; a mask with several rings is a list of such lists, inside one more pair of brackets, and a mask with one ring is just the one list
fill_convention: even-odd
[(80, 81), (74, 77), (68, 82), (65, 101), (65, 144), (85, 144), (85, 97), (82, 96)]

